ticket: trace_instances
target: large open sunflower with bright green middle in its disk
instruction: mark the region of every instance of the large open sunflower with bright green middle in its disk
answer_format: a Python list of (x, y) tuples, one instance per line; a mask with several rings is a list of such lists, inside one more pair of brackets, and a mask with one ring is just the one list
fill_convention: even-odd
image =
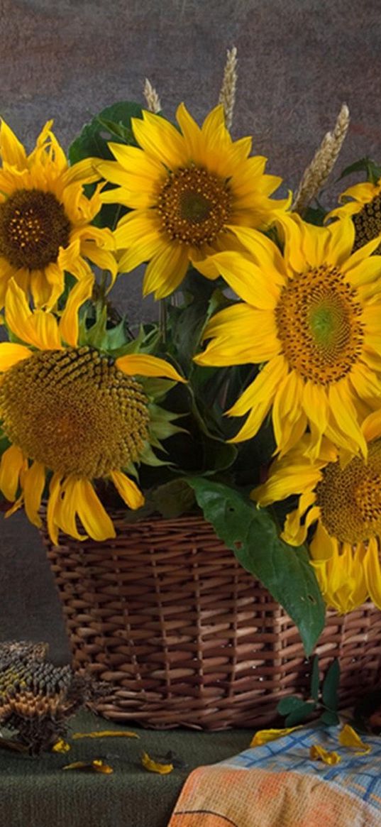
[(285, 216), (281, 229), (283, 256), (263, 234), (237, 228), (247, 255), (222, 252), (209, 261), (243, 301), (207, 324), (209, 342), (195, 361), (261, 366), (227, 411), (249, 414), (233, 442), (254, 437), (272, 409), (280, 452), (309, 428), (312, 457), (323, 435), (365, 457), (360, 423), (381, 394), (381, 256), (372, 256), (378, 241), (351, 255), (350, 218), (313, 227)]

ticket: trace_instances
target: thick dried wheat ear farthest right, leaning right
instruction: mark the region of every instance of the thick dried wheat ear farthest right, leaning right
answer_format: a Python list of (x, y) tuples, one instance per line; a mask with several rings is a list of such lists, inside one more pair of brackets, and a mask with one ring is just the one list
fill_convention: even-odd
[(350, 111), (343, 103), (334, 130), (326, 133), (319, 149), (312, 158), (311, 164), (307, 166), (302, 174), (302, 180), (293, 200), (292, 209), (295, 213), (302, 214), (308, 204), (311, 203), (312, 198), (315, 198), (326, 184), (326, 180), (331, 174), (341, 151), (349, 124)]

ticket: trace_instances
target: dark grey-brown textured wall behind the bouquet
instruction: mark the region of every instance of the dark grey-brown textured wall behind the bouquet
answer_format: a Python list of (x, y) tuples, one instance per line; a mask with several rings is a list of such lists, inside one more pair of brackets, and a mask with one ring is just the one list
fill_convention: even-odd
[[(65, 148), (100, 108), (142, 100), (148, 76), (164, 111), (196, 117), (217, 103), (226, 48), (236, 45), (233, 133), (255, 135), (268, 171), (296, 187), (341, 103), (350, 132), (339, 167), (381, 159), (381, 5), (374, 0), (0, 0), (0, 114), (31, 149), (55, 118)], [(131, 286), (132, 285), (132, 286)], [(140, 280), (117, 294), (131, 318), (152, 304)], [(38, 533), (0, 516), (0, 639), (47, 640), (69, 657)]]

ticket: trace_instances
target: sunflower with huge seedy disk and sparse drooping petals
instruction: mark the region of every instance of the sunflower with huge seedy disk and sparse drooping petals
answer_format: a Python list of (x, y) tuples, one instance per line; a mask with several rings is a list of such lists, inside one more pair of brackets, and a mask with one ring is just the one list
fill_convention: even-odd
[[(144, 377), (184, 381), (162, 359), (130, 353), (114, 361), (79, 337), (78, 309), (92, 292), (85, 275), (69, 294), (60, 323), (53, 313), (31, 312), (25, 294), (11, 281), (6, 298), (7, 327), (23, 343), (0, 343), (0, 420), (11, 443), (2, 454), (0, 490), (21, 504), (36, 526), (50, 476), (47, 523), (83, 540), (114, 537), (112, 520), (94, 489), (94, 480), (112, 480), (131, 509), (144, 498), (131, 479), (134, 463), (152, 463), (150, 443), (179, 430), (174, 414), (150, 404)], [(138, 376), (138, 379), (136, 379)], [(154, 457), (155, 459), (155, 457)], [(125, 472), (126, 471), (126, 472)], [(79, 533), (77, 519), (86, 532)]]

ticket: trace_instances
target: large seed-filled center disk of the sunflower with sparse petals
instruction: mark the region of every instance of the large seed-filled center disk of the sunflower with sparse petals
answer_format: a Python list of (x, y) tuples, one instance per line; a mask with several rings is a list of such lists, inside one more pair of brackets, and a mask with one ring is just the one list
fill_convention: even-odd
[(141, 386), (90, 347), (42, 351), (8, 370), (0, 418), (26, 457), (87, 479), (136, 461), (150, 419)]

